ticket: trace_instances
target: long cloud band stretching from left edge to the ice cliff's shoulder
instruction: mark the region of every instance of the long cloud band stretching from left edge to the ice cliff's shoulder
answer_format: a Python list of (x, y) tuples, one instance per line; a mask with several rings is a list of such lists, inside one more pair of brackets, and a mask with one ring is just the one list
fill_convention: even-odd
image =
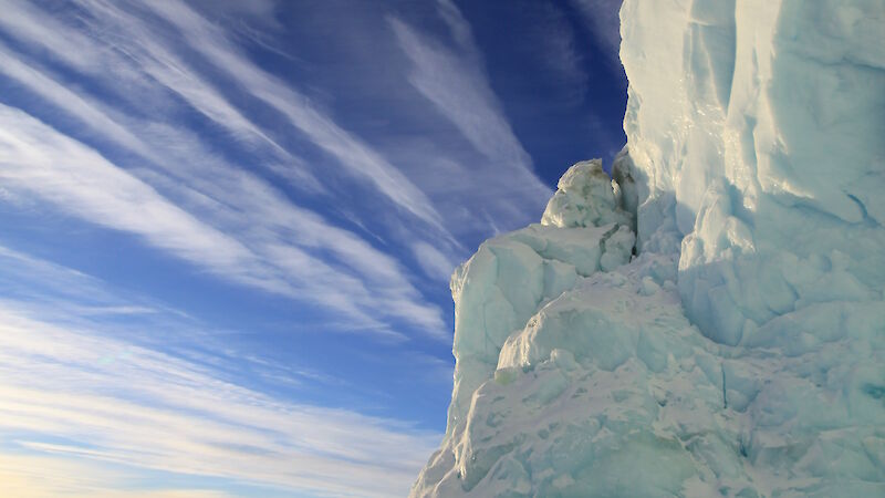
[[(23, 112), (0, 105), (0, 178), (12, 193), (38, 195), (87, 221), (143, 236), (154, 247), (232, 281), (337, 310), (354, 329), (399, 335), (385, 323), (394, 318), (446, 335), (439, 310), (424, 302), (393, 258), (289, 203), (247, 172), (209, 154), (201, 154), (201, 167), (168, 170), (190, 185), (179, 185), (179, 194), (202, 201), (189, 203), (202, 214), (198, 219)], [(331, 259), (308, 250), (325, 251)]]

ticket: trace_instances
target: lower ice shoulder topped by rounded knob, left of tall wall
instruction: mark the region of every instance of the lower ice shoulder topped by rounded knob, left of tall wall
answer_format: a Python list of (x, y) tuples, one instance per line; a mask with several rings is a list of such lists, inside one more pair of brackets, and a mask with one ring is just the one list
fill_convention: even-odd
[(451, 278), (457, 365), (447, 434), (492, 378), (516, 330), (579, 280), (629, 260), (629, 216), (616, 205), (602, 163), (579, 163), (563, 178), (541, 225), (487, 240)]

